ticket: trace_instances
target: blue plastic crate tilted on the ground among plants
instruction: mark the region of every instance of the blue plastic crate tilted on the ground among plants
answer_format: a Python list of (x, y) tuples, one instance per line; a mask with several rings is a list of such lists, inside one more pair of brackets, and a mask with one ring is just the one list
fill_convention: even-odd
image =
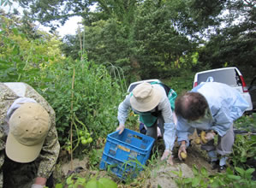
[(126, 179), (128, 173), (135, 177), (143, 167), (133, 161), (145, 165), (154, 141), (152, 137), (129, 129), (124, 129), (122, 134), (112, 132), (107, 137), (99, 168), (110, 167), (110, 170), (122, 179)]

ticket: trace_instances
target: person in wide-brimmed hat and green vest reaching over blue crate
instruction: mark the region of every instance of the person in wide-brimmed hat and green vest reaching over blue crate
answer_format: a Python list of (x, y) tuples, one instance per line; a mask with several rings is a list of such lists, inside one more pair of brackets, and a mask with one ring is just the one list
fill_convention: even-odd
[(162, 160), (167, 160), (173, 164), (171, 150), (176, 139), (176, 128), (169, 98), (164, 91), (164, 87), (159, 84), (149, 84), (146, 82), (137, 85), (134, 90), (120, 103), (118, 107), (119, 130), (121, 134), (125, 128), (125, 121), (128, 117), (128, 110), (133, 109), (134, 113), (140, 115), (146, 127), (146, 135), (157, 140), (158, 126), (164, 135), (165, 150)]

